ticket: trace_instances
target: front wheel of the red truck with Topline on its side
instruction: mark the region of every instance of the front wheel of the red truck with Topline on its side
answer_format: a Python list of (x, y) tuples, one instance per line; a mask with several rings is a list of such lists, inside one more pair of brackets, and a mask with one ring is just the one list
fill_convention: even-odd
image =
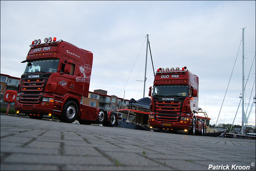
[(78, 107), (75, 102), (68, 101), (62, 109), (62, 114), (60, 115), (61, 122), (72, 123), (76, 120), (78, 116)]

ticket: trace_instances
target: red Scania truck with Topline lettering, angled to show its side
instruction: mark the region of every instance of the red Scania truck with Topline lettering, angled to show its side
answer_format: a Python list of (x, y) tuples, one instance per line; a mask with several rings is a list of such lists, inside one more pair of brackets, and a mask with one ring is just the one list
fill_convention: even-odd
[(15, 110), (30, 118), (57, 116), (62, 122), (80, 124), (117, 124), (112, 111), (87, 106), (92, 72), (92, 52), (56, 37), (34, 40), (25, 61), (27, 63), (18, 85)]

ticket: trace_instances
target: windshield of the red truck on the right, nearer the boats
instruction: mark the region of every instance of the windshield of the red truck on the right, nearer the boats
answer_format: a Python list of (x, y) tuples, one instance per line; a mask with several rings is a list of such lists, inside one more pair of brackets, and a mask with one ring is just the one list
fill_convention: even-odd
[(153, 96), (188, 96), (188, 85), (154, 86)]

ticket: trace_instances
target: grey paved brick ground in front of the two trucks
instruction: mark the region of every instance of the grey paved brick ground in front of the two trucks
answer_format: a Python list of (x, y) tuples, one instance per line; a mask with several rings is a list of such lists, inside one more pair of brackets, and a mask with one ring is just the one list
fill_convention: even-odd
[(1, 170), (255, 170), (255, 140), (0, 117)]

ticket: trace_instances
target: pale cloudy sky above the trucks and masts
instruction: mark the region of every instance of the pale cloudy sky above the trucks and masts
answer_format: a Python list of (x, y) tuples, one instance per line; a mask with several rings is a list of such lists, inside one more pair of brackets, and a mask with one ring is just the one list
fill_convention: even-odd
[[(234, 124), (241, 125), (244, 27), (246, 79), (252, 66), (245, 92), (248, 112), (255, 96), (255, 6), (255, 1), (244, 0), (1, 0), (1, 73), (20, 77), (26, 65), (20, 62), (31, 42), (57, 37), (92, 51), (90, 91), (103, 89), (108, 95), (138, 100), (143, 97), (148, 34), (155, 70), (186, 66), (198, 75), (199, 107), (212, 119), (210, 124), (219, 113), (217, 124), (232, 124), (238, 110)], [(146, 97), (154, 80), (149, 51), (147, 61)], [(255, 125), (255, 104), (248, 122)]]

